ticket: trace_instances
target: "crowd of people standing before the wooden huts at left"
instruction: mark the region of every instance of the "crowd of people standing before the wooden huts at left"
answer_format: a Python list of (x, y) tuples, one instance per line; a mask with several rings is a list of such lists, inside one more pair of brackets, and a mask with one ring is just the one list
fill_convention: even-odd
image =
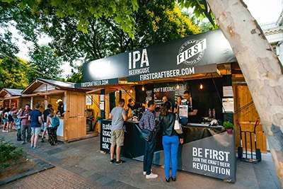
[[(59, 108), (57, 112), (64, 115), (64, 107), (62, 100), (58, 101)], [(61, 104), (60, 104), (61, 103)], [(52, 108), (52, 104), (47, 105), (47, 109), (43, 114), (39, 110), (40, 105), (35, 104), (35, 110), (30, 109), (30, 105), (26, 104), (25, 109), (17, 109), (9, 107), (0, 109), (0, 121), (3, 122), (2, 132), (11, 132), (12, 127), (16, 127), (17, 141), (21, 141), (21, 145), (30, 142), (31, 149), (38, 149), (37, 144), (40, 131), (42, 131), (41, 142), (45, 142), (45, 134), (47, 141), (51, 145), (57, 145), (57, 128), (59, 127), (59, 118)]]

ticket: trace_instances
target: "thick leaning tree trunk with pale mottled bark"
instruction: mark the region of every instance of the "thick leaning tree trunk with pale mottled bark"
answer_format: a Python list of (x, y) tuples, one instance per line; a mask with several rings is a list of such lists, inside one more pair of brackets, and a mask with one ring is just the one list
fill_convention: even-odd
[(229, 40), (258, 110), (283, 188), (283, 68), (241, 0), (207, 0)]

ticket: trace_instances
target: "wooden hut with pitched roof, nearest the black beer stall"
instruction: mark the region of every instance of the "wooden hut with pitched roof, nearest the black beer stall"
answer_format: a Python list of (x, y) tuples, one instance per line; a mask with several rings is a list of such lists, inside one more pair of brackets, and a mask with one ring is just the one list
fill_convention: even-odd
[(63, 142), (70, 142), (90, 137), (86, 134), (86, 91), (90, 90), (74, 88), (74, 84), (69, 82), (36, 79), (23, 90), (22, 96), (29, 98), (32, 109), (39, 103), (41, 112), (48, 104), (57, 111), (56, 102), (61, 99), (65, 113), (64, 117), (59, 116), (57, 136)]

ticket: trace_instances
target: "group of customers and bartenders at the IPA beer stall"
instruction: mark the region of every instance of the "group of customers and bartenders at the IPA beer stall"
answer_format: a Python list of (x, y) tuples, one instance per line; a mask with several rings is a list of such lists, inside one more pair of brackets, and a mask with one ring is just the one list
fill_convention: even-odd
[[(177, 172), (177, 154), (179, 144), (183, 144), (183, 134), (178, 134), (174, 130), (174, 124), (176, 120), (176, 116), (179, 117), (179, 106), (180, 105), (188, 105), (188, 116), (190, 118), (194, 118), (193, 116), (197, 116), (198, 106), (197, 101), (192, 101), (190, 91), (184, 92), (185, 101), (182, 101), (182, 96), (178, 96), (177, 102), (175, 103), (175, 107), (173, 104), (168, 101), (166, 96), (163, 96), (161, 105), (161, 114), (159, 118), (156, 119), (155, 108), (156, 103), (154, 101), (149, 101), (147, 103), (147, 108), (142, 114), (141, 120), (139, 121), (139, 127), (142, 129), (149, 130), (151, 132), (151, 139), (149, 141), (145, 140), (145, 148), (144, 148), (144, 166), (143, 166), (143, 174), (146, 178), (157, 178), (158, 175), (152, 172), (151, 164), (154, 158), (154, 151), (156, 148), (156, 134), (160, 133), (163, 136), (162, 144), (164, 149), (164, 170), (166, 175), (166, 182), (176, 181), (176, 172)], [(110, 164), (122, 164), (125, 161), (120, 159), (120, 151), (121, 147), (124, 144), (124, 121), (130, 118), (130, 115), (127, 116), (127, 110), (123, 107), (125, 105), (125, 100), (120, 99), (119, 105), (110, 113), (110, 119), (112, 119), (112, 129), (111, 129), (111, 147), (110, 147)], [(136, 107), (137, 106), (137, 107)], [(142, 103), (134, 102), (130, 99), (127, 107), (132, 110), (134, 108), (138, 108), (143, 106)], [(156, 121), (158, 120), (158, 122)], [(180, 119), (178, 119), (180, 120)], [(192, 121), (194, 121), (192, 119)], [(114, 125), (114, 126), (113, 126)], [(114, 158), (114, 150), (115, 145), (116, 148), (116, 159)], [(170, 162), (172, 165), (172, 174), (170, 176)]]

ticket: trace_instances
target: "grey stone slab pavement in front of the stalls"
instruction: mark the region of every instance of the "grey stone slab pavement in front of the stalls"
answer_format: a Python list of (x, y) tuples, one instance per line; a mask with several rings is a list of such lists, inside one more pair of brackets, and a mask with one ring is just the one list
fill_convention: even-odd
[[(110, 164), (110, 155), (100, 153), (100, 137), (83, 139), (69, 144), (60, 143), (50, 146), (47, 142), (41, 143), (40, 149), (29, 149), (29, 145), (20, 145), (16, 141), (16, 131), (6, 133), (0, 132), (0, 137), (6, 140), (13, 139), (14, 144), (23, 147), (24, 151), (50, 162), (57, 168), (67, 169), (72, 173), (91, 180), (93, 187), (104, 186), (105, 188), (280, 188), (279, 179), (270, 154), (262, 154), (259, 164), (250, 164), (237, 161), (237, 173), (235, 183), (225, 183), (216, 178), (200, 176), (194, 173), (178, 171), (176, 182), (166, 183), (165, 173), (161, 166), (153, 166), (153, 172), (159, 175), (156, 179), (146, 179), (142, 175), (142, 162), (132, 159), (126, 160), (124, 164), (116, 166)], [(53, 168), (52, 168), (53, 169)], [(50, 171), (52, 170), (50, 169)], [(68, 172), (66, 170), (66, 172)], [(42, 173), (45, 173), (43, 171)], [(63, 171), (64, 172), (64, 171)], [(27, 177), (26, 179), (28, 179)], [(62, 180), (60, 180), (62, 181)], [(77, 178), (80, 182), (81, 179)], [(15, 181), (16, 184), (19, 181)], [(59, 182), (59, 181), (58, 181)], [(64, 184), (67, 184), (67, 180)], [(11, 184), (14, 184), (11, 183)], [(55, 182), (56, 183), (56, 182)], [(6, 185), (4, 185), (6, 187)], [(78, 188), (71, 185), (69, 188)], [(59, 188), (57, 185), (52, 187)], [(64, 187), (64, 186), (63, 186)], [(79, 188), (88, 188), (88, 183), (79, 185)], [(43, 187), (45, 188), (45, 187)]]

